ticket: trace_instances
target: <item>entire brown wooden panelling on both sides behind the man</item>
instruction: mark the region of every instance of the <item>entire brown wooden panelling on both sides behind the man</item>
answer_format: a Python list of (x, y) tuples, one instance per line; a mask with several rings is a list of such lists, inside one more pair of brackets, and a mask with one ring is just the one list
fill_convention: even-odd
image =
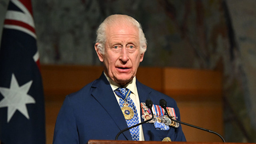
[[(46, 106), (46, 143), (51, 144), (58, 111), (67, 94), (102, 73), (102, 66), (42, 65)], [(222, 76), (210, 70), (140, 67), (137, 79), (176, 99), (183, 122), (223, 134)], [(221, 142), (214, 134), (182, 125), (187, 141)]]

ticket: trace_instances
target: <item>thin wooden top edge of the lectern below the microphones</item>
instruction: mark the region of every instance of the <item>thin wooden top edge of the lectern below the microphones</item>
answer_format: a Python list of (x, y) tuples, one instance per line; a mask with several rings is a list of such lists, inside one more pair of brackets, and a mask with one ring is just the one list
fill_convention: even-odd
[(156, 142), (156, 141), (124, 141), (124, 140), (89, 140), (88, 144), (250, 144), (233, 142)]

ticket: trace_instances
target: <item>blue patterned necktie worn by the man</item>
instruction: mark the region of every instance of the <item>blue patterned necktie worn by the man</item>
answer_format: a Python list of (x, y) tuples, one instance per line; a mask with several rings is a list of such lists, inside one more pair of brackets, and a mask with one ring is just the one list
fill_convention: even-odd
[[(130, 120), (126, 120), (127, 126), (131, 127), (131, 126), (134, 126), (135, 124), (138, 124), (139, 123), (138, 113), (134, 105), (134, 102), (130, 98), (131, 91), (128, 88), (118, 88), (115, 90), (115, 92), (116, 92), (116, 95), (120, 97), (120, 100), (119, 100), (120, 108), (124, 107), (125, 103), (128, 103), (129, 104), (128, 106), (132, 108), (132, 110), (134, 111), (133, 118)], [(135, 128), (131, 128), (130, 133), (132, 135), (132, 140), (139, 141), (139, 134), (140, 134), (139, 126), (136, 126)]]

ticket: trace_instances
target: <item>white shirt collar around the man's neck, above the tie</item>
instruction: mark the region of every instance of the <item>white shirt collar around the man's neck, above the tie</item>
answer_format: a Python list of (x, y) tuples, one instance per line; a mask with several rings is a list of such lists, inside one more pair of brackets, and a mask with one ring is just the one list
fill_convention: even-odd
[[(117, 84), (116, 82), (114, 82), (113, 80), (111, 80), (104, 72), (104, 75), (106, 76), (108, 82), (110, 83), (110, 86), (112, 88), (112, 90), (116, 90), (117, 88), (120, 87), (119, 84)], [(124, 85), (125, 88), (128, 88), (129, 90), (131, 90), (132, 93), (136, 92), (136, 76), (134, 76), (134, 78), (132, 78), (132, 80), (130, 82), (128, 82), (128, 84)]]

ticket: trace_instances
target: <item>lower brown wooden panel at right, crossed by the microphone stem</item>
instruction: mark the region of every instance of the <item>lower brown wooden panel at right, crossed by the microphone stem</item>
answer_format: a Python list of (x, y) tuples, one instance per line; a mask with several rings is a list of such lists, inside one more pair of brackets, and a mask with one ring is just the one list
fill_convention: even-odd
[[(223, 135), (222, 102), (220, 101), (177, 101), (181, 121), (206, 128)], [(182, 125), (189, 142), (222, 142), (212, 133)]]

